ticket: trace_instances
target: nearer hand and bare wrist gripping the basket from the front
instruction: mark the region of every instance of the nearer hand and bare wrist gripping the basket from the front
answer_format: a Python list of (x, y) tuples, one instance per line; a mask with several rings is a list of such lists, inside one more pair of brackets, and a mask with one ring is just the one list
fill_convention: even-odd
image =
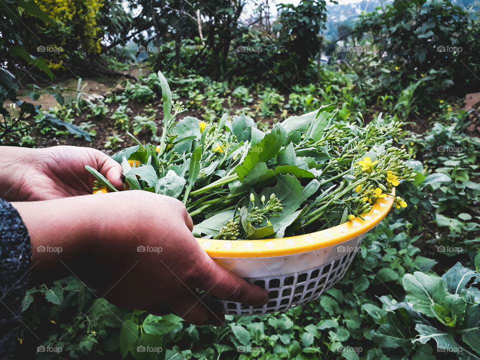
[[(268, 300), (265, 290), (206, 254), (185, 207), (172, 197), (130, 190), (13, 205), (30, 232), (37, 281), (73, 274), (117, 306), (173, 311), (196, 325), (223, 321), (196, 288), (250, 305)], [(38, 252), (42, 245), (62, 251)]]

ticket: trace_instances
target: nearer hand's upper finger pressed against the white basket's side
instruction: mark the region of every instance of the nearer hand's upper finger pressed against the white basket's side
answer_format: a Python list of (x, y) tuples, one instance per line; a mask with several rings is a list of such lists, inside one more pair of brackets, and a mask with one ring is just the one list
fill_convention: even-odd
[(268, 292), (265, 289), (246, 282), (207, 257), (202, 264), (197, 287), (223, 300), (246, 305), (263, 305), (268, 302)]

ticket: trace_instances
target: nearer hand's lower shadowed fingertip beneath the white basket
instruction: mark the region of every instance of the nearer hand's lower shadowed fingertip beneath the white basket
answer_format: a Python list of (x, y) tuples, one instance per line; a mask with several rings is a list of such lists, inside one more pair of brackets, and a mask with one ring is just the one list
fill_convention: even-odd
[(215, 312), (206, 307), (198, 298), (191, 293), (183, 294), (182, 300), (172, 306), (175, 314), (193, 325), (215, 325), (220, 326), (225, 317), (220, 312)]

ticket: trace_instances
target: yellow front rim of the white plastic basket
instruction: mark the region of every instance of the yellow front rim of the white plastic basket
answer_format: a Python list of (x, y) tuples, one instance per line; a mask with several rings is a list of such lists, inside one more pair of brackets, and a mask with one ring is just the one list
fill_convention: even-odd
[[(392, 190), (395, 195), (395, 190)], [(196, 238), (211, 257), (264, 257), (317, 250), (358, 236), (375, 226), (393, 205), (393, 196), (379, 198), (370, 212), (325, 230), (304, 235), (261, 240), (215, 240)]]

